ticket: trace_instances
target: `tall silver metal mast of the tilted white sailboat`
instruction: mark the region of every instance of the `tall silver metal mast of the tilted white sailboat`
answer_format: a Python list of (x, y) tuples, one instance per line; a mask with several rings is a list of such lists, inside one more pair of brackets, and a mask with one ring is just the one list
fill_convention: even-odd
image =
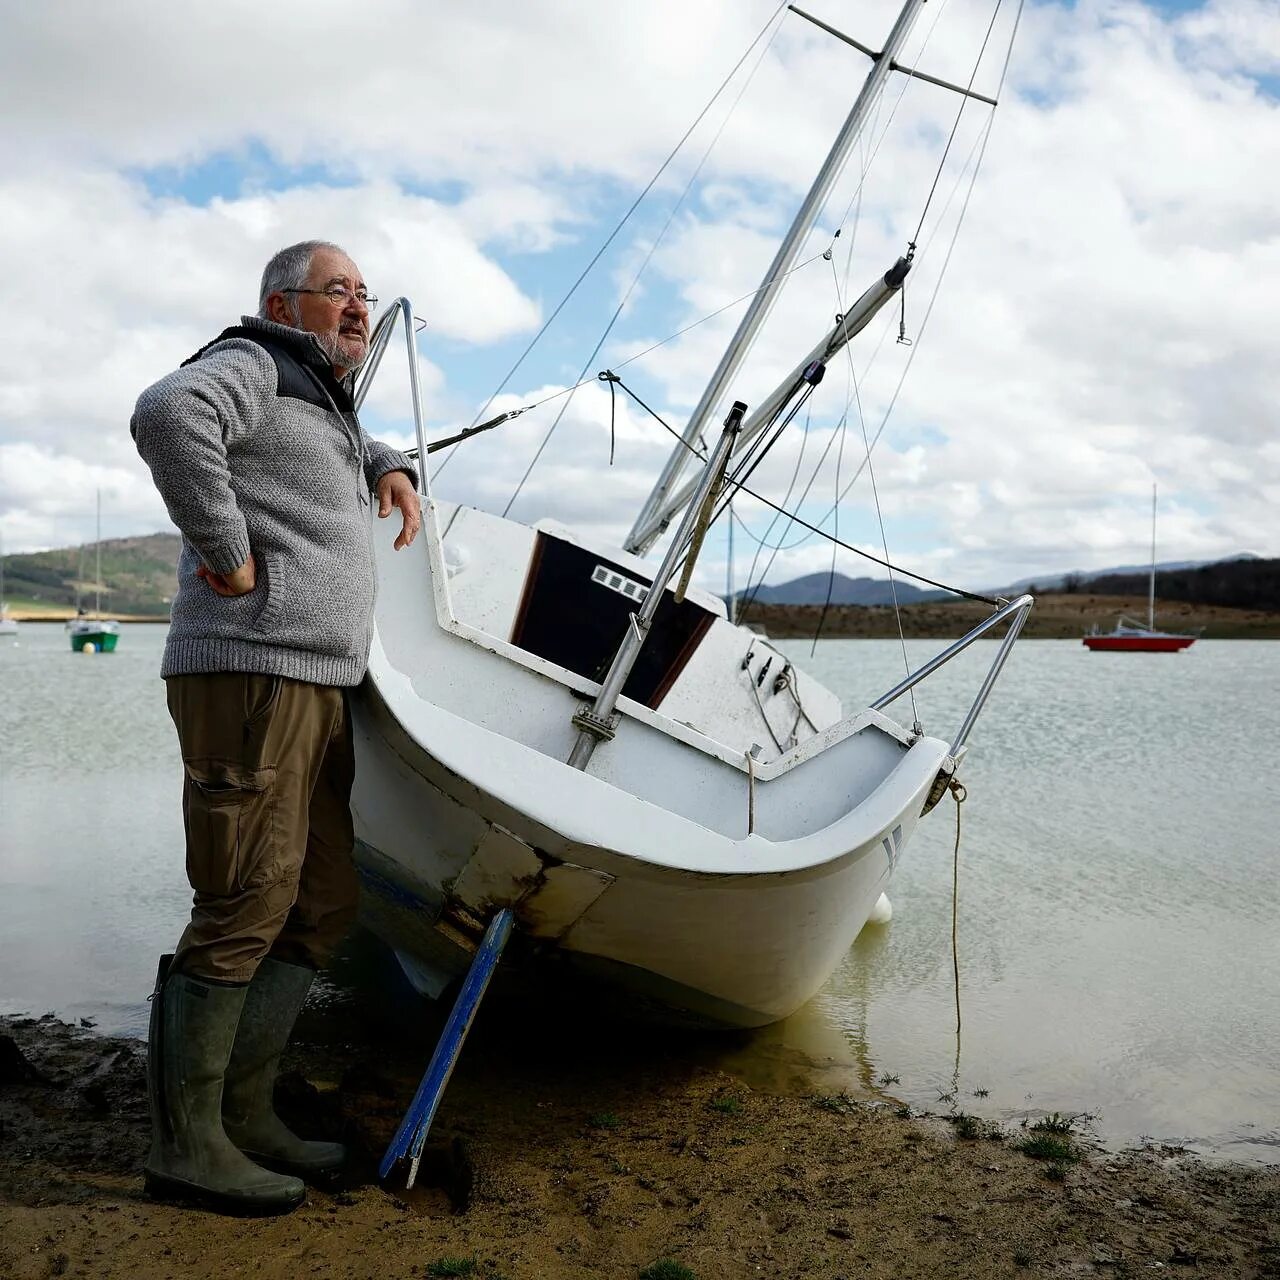
[[(646, 527), (652, 525), (654, 513), (664, 504), (668, 493), (678, 483), (687, 465), (687, 445), (692, 445), (703, 434), (704, 426), (716, 412), (716, 406), (728, 389), (730, 379), (737, 372), (760, 325), (764, 324), (773, 307), (773, 302), (782, 288), (783, 278), (795, 262), (805, 237), (817, 221), (823, 201), (840, 175), (840, 170), (844, 168), (854, 142), (858, 141), (863, 122), (876, 105), (876, 99), (879, 96), (884, 81), (895, 68), (895, 55), (906, 41), (911, 31), (911, 24), (915, 22), (916, 14), (923, 5), (924, 0), (906, 0), (901, 13), (897, 15), (897, 20), (893, 23), (893, 29), (890, 31), (888, 38), (884, 41), (884, 47), (879, 54), (872, 55), (872, 69), (863, 82), (861, 91), (849, 113), (849, 118), (845, 120), (844, 128), (837, 134), (835, 143), (832, 143), (823, 166), (818, 170), (818, 177), (814, 178), (813, 186), (809, 188), (809, 195), (805, 196), (804, 204), (801, 204), (800, 210), (796, 212), (790, 230), (778, 246), (769, 269), (764, 273), (764, 280), (746, 308), (746, 314), (739, 323), (736, 333), (730, 339), (730, 344), (721, 357), (716, 372), (712, 374), (712, 380), (707, 384), (707, 389), (703, 392), (703, 397), (698, 402), (692, 417), (689, 420), (689, 426), (685, 428), (684, 442), (677, 444), (671, 457), (667, 458), (667, 465), (663, 467), (657, 485), (654, 485), (653, 492), (645, 499), (640, 515), (636, 516), (636, 521), (631, 526), (631, 532), (627, 534), (626, 543), (623, 544), (627, 550), (636, 550), (639, 547), (646, 545), (644, 536)], [(650, 534), (648, 541), (652, 540), (653, 535)]]

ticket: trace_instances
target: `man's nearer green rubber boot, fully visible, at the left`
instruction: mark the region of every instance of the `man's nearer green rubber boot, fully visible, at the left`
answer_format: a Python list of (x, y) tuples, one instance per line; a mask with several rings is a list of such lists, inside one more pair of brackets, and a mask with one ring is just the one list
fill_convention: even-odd
[(223, 1076), (247, 987), (223, 987), (161, 960), (151, 1001), (147, 1194), (244, 1217), (288, 1213), (306, 1199), (297, 1178), (255, 1165), (223, 1129)]

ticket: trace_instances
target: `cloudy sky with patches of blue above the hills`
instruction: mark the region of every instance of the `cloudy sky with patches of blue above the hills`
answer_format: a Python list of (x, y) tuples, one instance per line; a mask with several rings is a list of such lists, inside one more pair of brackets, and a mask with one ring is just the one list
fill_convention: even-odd
[[(931, 0), (901, 60), (995, 93), (1015, 0), (979, 60), (992, 3)], [(804, 8), (878, 46), (897, 4)], [(105, 536), (168, 527), (133, 401), (296, 239), (413, 301), (429, 434), (471, 422), (741, 60), (494, 402), (630, 361), (682, 426), (867, 69), (774, 0), (46, 0), (4, 22), (10, 552), (91, 538), (95, 490)], [(968, 106), (945, 159), (960, 100), (895, 77), (732, 393), (762, 399), (920, 227), (914, 344), (882, 312), (755, 486), (878, 550), (874, 476), (891, 556), (966, 586), (1144, 561), (1153, 481), (1162, 559), (1280, 554), (1277, 104), (1275, 0), (1028, 3), (1000, 109)], [(389, 358), (366, 413), (399, 443), (403, 381)], [(463, 445), (436, 494), (502, 511), (563, 406)], [(671, 442), (620, 394), (611, 467), (609, 419), (600, 384), (577, 392), (511, 513), (621, 539)], [(739, 506), (739, 585), (753, 559), (831, 566)], [(717, 532), (703, 577), (724, 575)]]

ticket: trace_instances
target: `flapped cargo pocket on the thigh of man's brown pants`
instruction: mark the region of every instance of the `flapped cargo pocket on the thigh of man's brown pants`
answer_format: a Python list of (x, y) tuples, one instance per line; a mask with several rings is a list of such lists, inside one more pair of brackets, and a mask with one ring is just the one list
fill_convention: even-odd
[(275, 769), (184, 760), (187, 877), (197, 893), (229, 897), (279, 876)]

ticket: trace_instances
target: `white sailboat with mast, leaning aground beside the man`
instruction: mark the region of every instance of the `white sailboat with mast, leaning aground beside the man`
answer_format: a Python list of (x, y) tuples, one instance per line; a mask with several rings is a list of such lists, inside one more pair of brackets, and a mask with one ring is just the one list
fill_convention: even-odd
[[(627, 548), (435, 499), (410, 303), (398, 300), (375, 330), (357, 399), (403, 323), (424, 529), (399, 553), (375, 530), (380, 594), (369, 678), (353, 703), (353, 813), (364, 918), (420, 989), (438, 995), (461, 975), (485, 922), (512, 908), (513, 950), (524, 940), (526, 954), (571, 963), (628, 998), (716, 1025), (785, 1018), (846, 955), (954, 778), (1030, 596), (997, 602), (963, 640), (846, 710), (736, 626), (719, 598), (675, 581), (681, 557), (696, 556), (726, 468), (910, 268), (908, 255), (886, 271), (755, 412), (735, 406), (682, 484), (883, 82), (905, 70), (895, 58), (922, 4), (908, 0), (872, 55)], [(677, 517), (663, 563), (643, 559)], [(1001, 626), (952, 733), (887, 713)]]

